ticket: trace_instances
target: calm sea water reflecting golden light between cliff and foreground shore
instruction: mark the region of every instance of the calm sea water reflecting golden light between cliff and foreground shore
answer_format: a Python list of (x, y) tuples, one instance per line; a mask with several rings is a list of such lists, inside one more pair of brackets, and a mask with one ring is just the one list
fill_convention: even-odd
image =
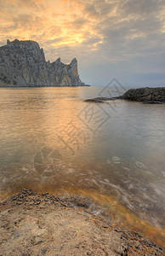
[(162, 240), (165, 106), (83, 102), (108, 95), (101, 90), (0, 89), (1, 198), (23, 188), (79, 191)]

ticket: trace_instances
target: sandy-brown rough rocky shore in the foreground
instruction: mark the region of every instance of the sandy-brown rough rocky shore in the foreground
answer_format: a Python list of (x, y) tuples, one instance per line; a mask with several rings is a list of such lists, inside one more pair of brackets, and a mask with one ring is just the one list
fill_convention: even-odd
[(164, 255), (136, 232), (111, 224), (79, 195), (23, 189), (0, 203), (0, 255)]

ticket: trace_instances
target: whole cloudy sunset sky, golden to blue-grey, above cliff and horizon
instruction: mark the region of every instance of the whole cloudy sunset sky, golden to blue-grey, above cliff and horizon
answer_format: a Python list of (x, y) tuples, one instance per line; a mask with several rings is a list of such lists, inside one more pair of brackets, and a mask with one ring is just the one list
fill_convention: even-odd
[(76, 57), (86, 84), (165, 86), (165, 0), (0, 0), (0, 46), (33, 40)]

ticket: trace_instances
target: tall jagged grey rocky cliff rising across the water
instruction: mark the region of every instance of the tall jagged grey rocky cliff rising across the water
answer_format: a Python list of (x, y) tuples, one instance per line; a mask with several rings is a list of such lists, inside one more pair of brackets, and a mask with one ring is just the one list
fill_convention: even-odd
[(77, 59), (65, 65), (60, 58), (50, 63), (34, 41), (13, 42), (0, 47), (0, 85), (2, 86), (82, 86)]

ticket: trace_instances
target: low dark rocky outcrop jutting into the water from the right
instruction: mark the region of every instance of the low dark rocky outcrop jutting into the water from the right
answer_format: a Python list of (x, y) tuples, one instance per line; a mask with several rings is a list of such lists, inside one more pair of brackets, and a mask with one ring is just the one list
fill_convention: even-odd
[(163, 104), (165, 103), (165, 87), (145, 87), (138, 89), (130, 89), (126, 91), (122, 96), (116, 96), (111, 98), (97, 97), (93, 99), (87, 99), (85, 100), (85, 102), (103, 103), (117, 99), (134, 102), (143, 102), (148, 104)]

